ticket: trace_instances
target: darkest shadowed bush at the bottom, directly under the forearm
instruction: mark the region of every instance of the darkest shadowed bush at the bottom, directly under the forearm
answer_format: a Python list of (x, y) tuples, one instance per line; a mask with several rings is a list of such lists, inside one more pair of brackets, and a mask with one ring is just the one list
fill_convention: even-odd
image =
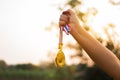
[(87, 67), (86, 64), (79, 64), (76, 68), (75, 80), (113, 80), (96, 65)]

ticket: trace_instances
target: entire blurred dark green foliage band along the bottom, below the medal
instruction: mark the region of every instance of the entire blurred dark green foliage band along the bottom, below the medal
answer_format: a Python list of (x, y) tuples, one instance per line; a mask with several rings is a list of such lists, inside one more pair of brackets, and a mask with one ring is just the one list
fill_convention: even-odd
[(95, 65), (88, 67), (87, 64), (79, 64), (57, 68), (53, 64), (46, 67), (17, 64), (7, 65), (6, 69), (0, 70), (0, 80), (112, 80), (112, 78)]

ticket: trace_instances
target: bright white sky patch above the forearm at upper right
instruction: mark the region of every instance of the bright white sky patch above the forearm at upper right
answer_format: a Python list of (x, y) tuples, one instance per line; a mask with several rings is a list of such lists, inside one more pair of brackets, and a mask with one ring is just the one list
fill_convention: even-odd
[(92, 7), (97, 9), (97, 14), (88, 18), (88, 25), (93, 31), (101, 34), (100, 36), (103, 37), (103, 39), (106, 39), (103, 29), (108, 26), (108, 24), (114, 24), (115, 28), (118, 28), (117, 32), (120, 32), (120, 10), (108, 1), (109, 0), (85, 0), (83, 6), (84, 11)]

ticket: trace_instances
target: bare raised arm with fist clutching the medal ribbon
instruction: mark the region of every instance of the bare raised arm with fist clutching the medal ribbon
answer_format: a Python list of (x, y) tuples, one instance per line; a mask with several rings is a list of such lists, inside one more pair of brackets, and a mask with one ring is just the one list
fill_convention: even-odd
[(120, 80), (119, 59), (81, 27), (78, 17), (71, 9), (63, 11), (60, 15), (59, 27), (63, 27), (66, 24), (71, 26), (71, 35), (91, 59), (107, 74), (113, 77), (114, 80)]

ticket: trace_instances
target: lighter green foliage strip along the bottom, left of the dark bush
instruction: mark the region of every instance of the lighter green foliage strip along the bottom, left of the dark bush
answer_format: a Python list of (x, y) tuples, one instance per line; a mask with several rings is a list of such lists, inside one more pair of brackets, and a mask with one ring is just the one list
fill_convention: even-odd
[[(18, 64), (8, 66), (0, 70), (0, 80), (70, 80), (69, 67), (56, 68), (47, 66), (45, 68), (32, 64)], [(27, 66), (27, 67), (26, 67)]]

